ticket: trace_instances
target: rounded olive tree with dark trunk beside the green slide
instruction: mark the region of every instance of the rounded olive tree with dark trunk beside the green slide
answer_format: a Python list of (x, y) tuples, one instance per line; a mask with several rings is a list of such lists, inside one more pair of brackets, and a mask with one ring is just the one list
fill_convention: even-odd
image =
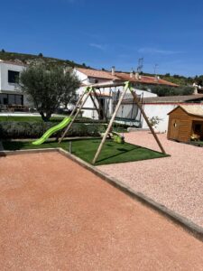
[(73, 70), (35, 64), (22, 71), (20, 85), (23, 92), (32, 98), (42, 119), (49, 121), (61, 104), (67, 106), (74, 102), (80, 82)]

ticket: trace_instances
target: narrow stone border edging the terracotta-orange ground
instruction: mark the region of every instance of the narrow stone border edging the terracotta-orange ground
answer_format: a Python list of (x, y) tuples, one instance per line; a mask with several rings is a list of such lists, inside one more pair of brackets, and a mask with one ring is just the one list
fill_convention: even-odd
[(181, 216), (180, 214), (176, 213), (173, 210), (168, 209), (164, 205), (153, 201), (151, 198), (145, 196), (142, 192), (135, 192), (131, 187), (127, 186), (124, 182), (121, 182), (109, 175), (101, 172), (97, 169), (97, 167), (88, 164), (78, 158), (73, 154), (69, 154), (62, 148), (42, 148), (42, 149), (29, 149), (29, 150), (17, 150), (17, 151), (0, 151), (0, 156), (6, 155), (15, 155), (15, 154), (37, 154), (37, 153), (50, 153), (50, 152), (58, 152), (65, 157), (68, 157), (72, 161), (76, 162), (77, 164), (81, 165), (91, 173), (96, 174), (102, 180), (108, 182), (109, 184), (113, 185), (115, 188), (119, 189), (121, 192), (125, 192), (126, 195), (130, 196), (131, 198), (141, 201), (147, 207), (152, 208), (153, 210), (158, 211), (164, 217), (172, 220), (176, 224), (180, 225), (183, 229), (187, 230), (189, 234), (192, 234), (194, 237), (198, 238), (199, 240), (203, 241), (203, 227), (198, 226), (191, 220)]

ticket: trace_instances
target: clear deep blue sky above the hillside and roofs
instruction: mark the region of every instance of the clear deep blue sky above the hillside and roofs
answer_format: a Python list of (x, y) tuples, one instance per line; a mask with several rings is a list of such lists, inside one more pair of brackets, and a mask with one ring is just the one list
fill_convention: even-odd
[(94, 68), (203, 74), (203, 1), (1, 1), (0, 49)]

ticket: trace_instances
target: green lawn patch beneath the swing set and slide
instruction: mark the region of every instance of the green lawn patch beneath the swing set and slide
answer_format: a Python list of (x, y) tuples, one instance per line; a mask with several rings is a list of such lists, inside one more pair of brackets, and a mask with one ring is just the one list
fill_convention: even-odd
[[(100, 144), (100, 139), (79, 139), (71, 140), (72, 154), (78, 156), (82, 160), (92, 164), (92, 160), (97, 152), (97, 147)], [(32, 145), (25, 142), (3, 142), (5, 150), (23, 150), (36, 148), (55, 148), (61, 147), (69, 151), (70, 141), (48, 142), (42, 145)], [(140, 161), (153, 158), (166, 157), (168, 154), (161, 154), (159, 152), (144, 148), (139, 145), (132, 145), (129, 143), (117, 144), (112, 140), (106, 140), (101, 154), (97, 159), (96, 165), (101, 164), (117, 164), (133, 161)]]

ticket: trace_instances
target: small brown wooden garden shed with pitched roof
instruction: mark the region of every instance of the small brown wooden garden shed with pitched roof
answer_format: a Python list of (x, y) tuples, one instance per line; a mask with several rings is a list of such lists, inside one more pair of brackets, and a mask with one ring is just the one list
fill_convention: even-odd
[(181, 105), (168, 115), (168, 139), (189, 142), (191, 135), (198, 135), (199, 140), (203, 140), (203, 107), (201, 105)]

